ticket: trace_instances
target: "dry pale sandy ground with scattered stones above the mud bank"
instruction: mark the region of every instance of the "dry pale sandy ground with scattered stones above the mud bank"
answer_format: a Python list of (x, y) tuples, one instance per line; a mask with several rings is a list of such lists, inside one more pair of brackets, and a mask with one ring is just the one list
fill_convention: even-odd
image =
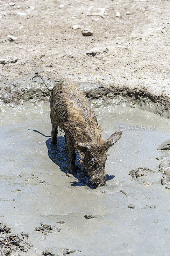
[[(0, 1), (0, 78), (33, 74), (135, 84), (168, 93), (169, 1)], [(12, 5), (12, 6), (11, 6)], [(94, 6), (94, 8), (91, 8)], [(87, 16), (99, 12), (103, 15)], [(120, 17), (116, 17), (116, 13)], [(97, 14), (97, 13), (96, 13)], [(80, 27), (90, 28), (83, 36)], [(17, 37), (10, 41), (7, 36)], [(95, 56), (87, 52), (95, 49)], [(42, 68), (42, 71), (40, 68)], [(43, 74), (45, 73), (45, 74)]]

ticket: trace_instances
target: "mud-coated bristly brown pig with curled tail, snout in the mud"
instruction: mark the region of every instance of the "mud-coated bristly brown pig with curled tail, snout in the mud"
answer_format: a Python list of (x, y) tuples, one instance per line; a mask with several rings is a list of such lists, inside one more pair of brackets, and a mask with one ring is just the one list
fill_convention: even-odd
[[(40, 77), (50, 90), (42, 76), (34, 77)], [(94, 187), (105, 185), (104, 168), (107, 151), (120, 139), (122, 132), (115, 132), (106, 140), (102, 138), (102, 129), (96, 115), (78, 84), (64, 80), (54, 85), (50, 91), (52, 91), (50, 95), (51, 143), (57, 144), (59, 126), (64, 130), (66, 137), (68, 172), (73, 175), (76, 173), (75, 149), (77, 149), (80, 161), (89, 176), (89, 183)]]

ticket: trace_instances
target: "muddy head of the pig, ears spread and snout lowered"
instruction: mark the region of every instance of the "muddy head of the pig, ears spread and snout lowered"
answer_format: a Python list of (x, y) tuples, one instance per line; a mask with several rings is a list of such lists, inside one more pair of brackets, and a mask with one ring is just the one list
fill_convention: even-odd
[(89, 175), (89, 182), (94, 187), (106, 185), (105, 162), (108, 149), (120, 139), (122, 132), (113, 133), (109, 139), (82, 143), (76, 142), (81, 163)]

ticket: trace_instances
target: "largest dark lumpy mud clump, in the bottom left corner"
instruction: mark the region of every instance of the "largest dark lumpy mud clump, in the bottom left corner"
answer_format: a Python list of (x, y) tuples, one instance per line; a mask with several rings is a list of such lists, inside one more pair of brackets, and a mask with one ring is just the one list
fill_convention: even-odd
[(32, 244), (28, 241), (28, 234), (21, 233), (11, 234), (11, 228), (0, 223), (0, 244), (5, 255), (9, 255), (11, 252), (18, 252), (18, 255), (24, 255), (24, 252), (28, 252), (32, 248)]

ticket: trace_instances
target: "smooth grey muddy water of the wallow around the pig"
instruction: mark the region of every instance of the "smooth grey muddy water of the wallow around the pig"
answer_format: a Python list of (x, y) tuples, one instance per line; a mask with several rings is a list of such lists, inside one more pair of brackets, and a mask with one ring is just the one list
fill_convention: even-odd
[[(160, 184), (162, 174), (131, 180), (129, 171), (140, 166), (158, 171), (156, 157), (164, 152), (156, 148), (169, 138), (170, 121), (125, 106), (94, 111), (104, 138), (120, 125), (125, 127), (108, 152), (107, 185), (96, 189), (66, 176), (63, 133), (58, 133), (57, 146), (50, 144), (49, 106), (40, 103), (15, 110), (2, 106), (0, 221), (13, 232), (29, 233), (36, 248), (32, 255), (41, 255), (46, 247), (81, 250), (71, 253), (80, 256), (169, 255), (170, 192)], [(143, 186), (144, 180), (152, 181), (152, 187)], [(135, 209), (129, 209), (129, 204)], [(89, 213), (97, 218), (86, 220)], [(65, 223), (57, 223), (60, 220)], [(40, 222), (62, 230), (42, 235), (34, 231)]]

